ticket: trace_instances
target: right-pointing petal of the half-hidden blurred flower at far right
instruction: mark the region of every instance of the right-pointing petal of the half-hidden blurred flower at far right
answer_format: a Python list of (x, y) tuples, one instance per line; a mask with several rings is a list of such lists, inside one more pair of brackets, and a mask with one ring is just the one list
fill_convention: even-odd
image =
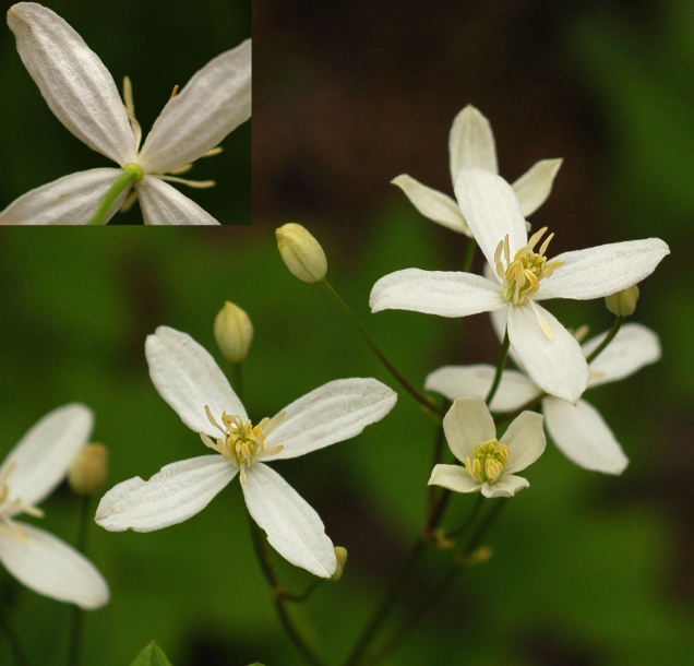
[[(606, 335), (607, 332), (601, 333), (583, 345), (586, 357), (600, 345)], [(655, 364), (659, 358), (660, 341), (650, 329), (636, 323), (624, 324), (590, 364), (588, 385), (597, 386), (624, 379), (644, 366)]]

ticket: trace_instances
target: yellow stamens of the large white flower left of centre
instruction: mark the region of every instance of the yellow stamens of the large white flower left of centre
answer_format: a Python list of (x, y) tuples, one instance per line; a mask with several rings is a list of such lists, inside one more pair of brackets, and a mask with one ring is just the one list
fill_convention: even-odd
[(222, 432), (222, 437), (213, 442), (204, 432), (200, 433), (203, 442), (222, 453), (224, 457), (234, 461), (239, 467), (241, 483), (246, 484), (246, 471), (259, 459), (279, 453), (284, 447), (274, 444), (270, 448), (265, 445), (267, 436), (284, 420), (285, 413), (280, 412), (272, 419), (265, 417), (253, 426), (250, 420), (237, 415), (222, 413), (222, 425), (217, 423), (207, 405), (205, 413), (210, 423)]

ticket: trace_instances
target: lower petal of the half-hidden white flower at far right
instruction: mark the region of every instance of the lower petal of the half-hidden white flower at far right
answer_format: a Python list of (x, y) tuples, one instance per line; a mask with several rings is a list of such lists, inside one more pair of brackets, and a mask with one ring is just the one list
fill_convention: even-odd
[(542, 401), (547, 431), (559, 450), (584, 469), (621, 474), (629, 459), (600, 413), (579, 400), (574, 406), (555, 397)]

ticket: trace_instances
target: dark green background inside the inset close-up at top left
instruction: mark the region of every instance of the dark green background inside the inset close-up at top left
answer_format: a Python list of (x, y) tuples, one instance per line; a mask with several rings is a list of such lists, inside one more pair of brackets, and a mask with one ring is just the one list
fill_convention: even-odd
[[(7, 10), (12, 2), (3, 2)], [(110, 71), (122, 94), (130, 76), (143, 142), (171, 96), (210, 60), (251, 36), (248, 0), (55, 0), (45, 3), (77, 31)], [(28, 190), (75, 171), (112, 167), (107, 157), (73, 136), (52, 115), (14, 46), (0, 31), (0, 210)], [(223, 142), (224, 152), (200, 159), (186, 177), (217, 181), (194, 190), (175, 186), (225, 225), (250, 222), (251, 127), (246, 122)], [(109, 225), (142, 225), (137, 205)]]

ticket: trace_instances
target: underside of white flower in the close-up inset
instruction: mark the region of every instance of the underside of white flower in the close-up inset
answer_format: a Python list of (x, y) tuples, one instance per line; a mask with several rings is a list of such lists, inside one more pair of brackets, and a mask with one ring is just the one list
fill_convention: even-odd
[[(22, 61), (57, 118), (91, 148), (122, 168), (65, 176), (20, 197), (0, 219), (11, 224), (86, 224), (125, 167), (141, 174), (134, 188), (145, 224), (217, 225), (198, 204), (164, 182), (214, 148), (251, 116), (251, 40), (200, 70), (157, 118), (142, 150), (140, 127), (112, 76), (82, 37), (51, 10), (20, 2), (8, 11)], [(140, 170), (137, 170), (140, 169)], [(189, 183), (190, 185), (190, 183)], [(122, 205), (128, 188), (109, 209)]]

